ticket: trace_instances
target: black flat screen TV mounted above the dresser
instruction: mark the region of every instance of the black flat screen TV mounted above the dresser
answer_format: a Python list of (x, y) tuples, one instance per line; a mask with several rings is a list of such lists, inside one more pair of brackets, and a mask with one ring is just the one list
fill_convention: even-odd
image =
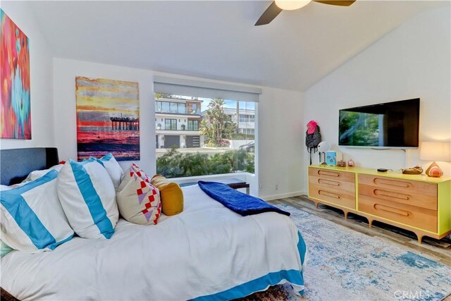
[(338, 145), (417, 148), (420, 99), (340, 110)]

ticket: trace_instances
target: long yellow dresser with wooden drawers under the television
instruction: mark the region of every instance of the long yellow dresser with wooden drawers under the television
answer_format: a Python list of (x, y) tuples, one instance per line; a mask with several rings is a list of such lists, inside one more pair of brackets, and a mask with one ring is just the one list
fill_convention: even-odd
[(451, 233), (451, 178), (381, 173), (375, 169), (309, 166), (309, 198), (423, 236)]

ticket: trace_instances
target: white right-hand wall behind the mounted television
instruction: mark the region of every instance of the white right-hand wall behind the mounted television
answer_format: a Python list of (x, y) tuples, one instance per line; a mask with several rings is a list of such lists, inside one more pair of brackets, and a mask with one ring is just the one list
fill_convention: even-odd
[[(450, 10), (421, 13), (379, 39), (304, 94), (304, 123), (314, 119), (323, 140), (354, 159), (357, 166), (391, 168), (431, 162), (420, 161), (419, 151), (338, 148), (338, 110), (419, 97), (420, 141), (451, 139)], [(314, 159), (318, 162), (318, 155)], [(307, 191), (307, 155), (303, 189)], [(440, 166), (447, 176), (449, 163)]]

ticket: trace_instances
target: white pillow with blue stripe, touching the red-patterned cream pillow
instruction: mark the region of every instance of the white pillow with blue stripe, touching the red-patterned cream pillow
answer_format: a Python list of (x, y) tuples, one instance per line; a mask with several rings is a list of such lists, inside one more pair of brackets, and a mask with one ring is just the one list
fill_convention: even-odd
[(96, 159), (70, 160), (58, 174), (58, 196), (70, 226), (82, 238), (111, 238), (118, 222), (116, 191)]

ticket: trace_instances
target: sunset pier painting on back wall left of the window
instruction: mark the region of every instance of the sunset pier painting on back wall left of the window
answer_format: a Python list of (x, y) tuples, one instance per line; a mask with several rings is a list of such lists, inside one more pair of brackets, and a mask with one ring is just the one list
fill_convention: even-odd
[(118, 161), (140, 159), (137, 82), (75, 78), (78, 160), (111, 152)]

